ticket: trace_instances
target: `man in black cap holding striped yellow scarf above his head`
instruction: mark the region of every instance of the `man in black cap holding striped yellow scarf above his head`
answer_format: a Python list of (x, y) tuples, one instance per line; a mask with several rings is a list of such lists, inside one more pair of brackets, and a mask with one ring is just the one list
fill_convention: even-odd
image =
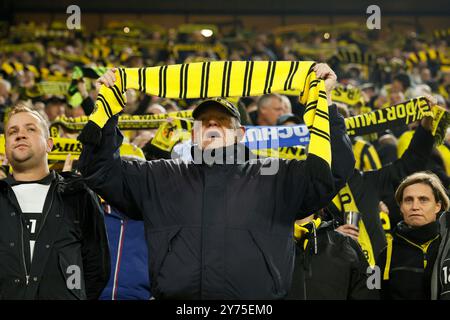
[[(224, 81), (223, 85), (231, 92), (226, 96), (231, 96), (236, 83), (230, 81), (231, 63), (227, 63), (223, 70), (228, 83)], [(253, 62), (246, 62), (246, 66), (249, 65), (244, 77), (247, 93), (259, 90), (251, 73), (262, 70), (256, 62), (255, 70)], [(227, 66), (230, 72), (226, 75)], [(275, 66), (271, 62), (268, 66), (266, 88), (272, 86), (269, 73), (275, 74)], [(305, 74), (313, 78), (308, 78), (308, 88), (303, 92), (307, 95), (317, 90), (315, 100), (308, 102), (306, 109), (322, 103), (325, 111), (317, 109), (316, 117), (321, 119), (316, 118), (310, 130), (323, 140), (311, 142), (305, 161), (252, 158), (249, 150), (240, 143), (244, 129), (240, 125), (239, 112), (222, 98), (207, 99), (194, 110), (197, 123), (192, 131), (193, 161), (123, 161), (119, 156), (123, 136), (117, 128), (116, 105), (102, 98), (106, 94), (99, 95), (106, 101), (97, 103), (97, 107), (107, 106), (103, 114), (108, 118), (100, 121), (100, 111), (91, 116), (90, 127), (87, 125), (79, 137), (83, 142), (79, 168), (86, 183), (106, 201), (129, 217), (144, 220), (155, 298), (286, 297), (293, 271), (294, 221), (327, 205), (354, 167), (344, 119), (330, 100), (336, 75), (325, 64), (308, 64), (306, 67)], [(191, 66), (190, 70), (193, 68)], [(182, 65), (181, 74), (184, 71), (187, 74), (187, 69)], [(164, 75), (165, 70), (163, 67), (160, 74)], [(297, 69), (291, 68), (287, 78), (291, 82), (293, 70)], [(123, 92), (127, 86), (125, 82), (132, 81), (131, 76), (123, 77), (126, 69), (119, 71), (109, 71), (100, 78), (102, 84), (114, 89), (111, 90), (114, 95), (117, 94), (116, 86)], [(215, 71), (212, 68), (212, 76)], [(149, 79), (146, 72), (139, 71), (139, 87), (145, 87), (146, 81), (157, 83), (156, 79)], [(167, 75), (170, 74), (169, 70)], [(325, 83), (315, 77), (325, 79)], [(180, 76), (180, 83), (184, 84), (186, 78), (189, 76)], [(275, 86), (280, 79), (274, 78)], [(162, 78), (161, 81), (166, 80)], [(184, 87), (189, 96), (186, 88), (196, 84), (186, 83), (180, 88)], [(177, 81), (169, 79), (163, 91), (167, 89), (170, 93), (170, 86), (174, 85), (178, 86)], [(202, 92), (206, 91), (202, 86)], [(112, 94), (111, 97), (114, 98)]]

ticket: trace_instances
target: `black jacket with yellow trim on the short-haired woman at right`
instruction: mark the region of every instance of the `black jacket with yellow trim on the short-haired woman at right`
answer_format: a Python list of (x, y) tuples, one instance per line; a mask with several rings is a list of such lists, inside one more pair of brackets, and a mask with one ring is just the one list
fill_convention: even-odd
[(388, 300), (429, 300), (431, 273), (439, 247), (439, 223), (437, 221), (419, 228), (411, 228), (403, 221), (393, 233), (390, 263), (387, 248), (379, 262), (384, 276), (382, 298)]

